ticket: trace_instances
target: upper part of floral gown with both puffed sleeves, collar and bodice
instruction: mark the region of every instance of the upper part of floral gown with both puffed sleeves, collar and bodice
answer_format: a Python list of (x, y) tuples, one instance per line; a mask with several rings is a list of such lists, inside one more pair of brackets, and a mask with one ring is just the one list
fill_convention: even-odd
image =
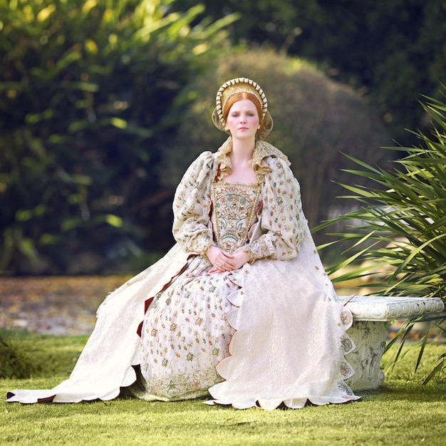
[[(266, 142), (256, 145), (252, 163), (258, 178), (258, 186), (254, 185), (259, 188), (257, 204), (261, 199), (261, 206), (254, 204), (254, 209), (250, 208), (253, 213), (248, 212), (244, 217), (232, 221), (236, 229), (229, 229), (229, 214), (223, 211), (219, 212), (217, 224), (215, 204), (226, 205), (229, 198), (222, 197), (226, 192), (220, 188), (231, 190), (235, 187), (235, 195), (246, 195), (249, 205), (255, 201), (254, 190), (248, 192), (253, 185), (224, 182), (224, 177), (232, 172), (227, 155), (229, 146), (227, 142), (216, 153), (203, 152), (182, 178), (173, 204), (172, 232), (175, 240), (184, 251), (204, 256), (209, 246), (223, 242), (224, 232), (226, 249), (243, 246), (251, 263), (266, 258), (293, 259), (298, 254), (299, 244), (308, 227), (302, 212), (299, 182), (294, 178), (289, 163), (279, 156), (279, 150), (272, 146), (267, 150), (269, 146)], [(213, 197), (213, 187), (218, 188), (218, 197)], [(233, 212), (234, 209), (237, 207), (233, 208)], [(240, 231), (241, 227), (244, 228), (243, 232)], [(229, 242), (230, 239), (232, 242)], [(225, 249), (223, 243), (222, 249)]]

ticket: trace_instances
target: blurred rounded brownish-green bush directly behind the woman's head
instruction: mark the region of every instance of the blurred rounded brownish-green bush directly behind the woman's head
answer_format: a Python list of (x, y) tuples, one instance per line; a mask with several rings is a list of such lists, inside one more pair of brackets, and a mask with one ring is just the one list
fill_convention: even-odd
[(172, 150), (165, 154), (165, 184), (173, 187), (199, 152), (213, 152), (226, 139), (214, 128), (211, 113), (219, 85), (236, 77), (253, 78), (264, 89), (274, 119), (266, 140), (288, 155), (312, 226), (342, 212), (343, 203), (336, 199), (342, 189), (333, 185), (346, 178), (342, 169), (349, 161), (341, 152), (363, 155), (372, 163), (393, 157), (378, 148), (389, 142), (388, 135), (351, 88), (328, 80), (308, 62), (259, 48), (219, 58), (214, 69), (192, 85), (192, 105), (169, 142)]

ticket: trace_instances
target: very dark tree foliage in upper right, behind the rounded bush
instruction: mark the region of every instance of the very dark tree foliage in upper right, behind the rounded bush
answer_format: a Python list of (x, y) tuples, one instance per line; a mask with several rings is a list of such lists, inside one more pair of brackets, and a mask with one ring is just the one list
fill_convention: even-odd
[[(192, 0), (180, 0), (187, 7)], [(235, 42), (269, 43), (316, 61), (329, 76), (370, 93), (399, 144), (425, 125), (420, 93), (437, 97), (446, 73), (445, 0), (204, 0), (207, 14), (237, 12)]]

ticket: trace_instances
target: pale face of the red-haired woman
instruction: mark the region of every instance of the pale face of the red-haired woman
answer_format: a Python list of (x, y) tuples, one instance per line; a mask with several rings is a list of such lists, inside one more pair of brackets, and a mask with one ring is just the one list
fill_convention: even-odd
[(255, 138), (259, 123), (259, 113), (249, 99), (239, 100), (229, 109), (226, 125), (232, 138)]

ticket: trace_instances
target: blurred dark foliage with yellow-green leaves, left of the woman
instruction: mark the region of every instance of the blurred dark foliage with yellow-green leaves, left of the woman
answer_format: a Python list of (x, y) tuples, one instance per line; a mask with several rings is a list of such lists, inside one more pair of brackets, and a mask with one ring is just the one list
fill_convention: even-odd
[(1, 0), (0, 270), (99, 270), (156, 232), (157, 140), (235, 19), (171, 3)]

